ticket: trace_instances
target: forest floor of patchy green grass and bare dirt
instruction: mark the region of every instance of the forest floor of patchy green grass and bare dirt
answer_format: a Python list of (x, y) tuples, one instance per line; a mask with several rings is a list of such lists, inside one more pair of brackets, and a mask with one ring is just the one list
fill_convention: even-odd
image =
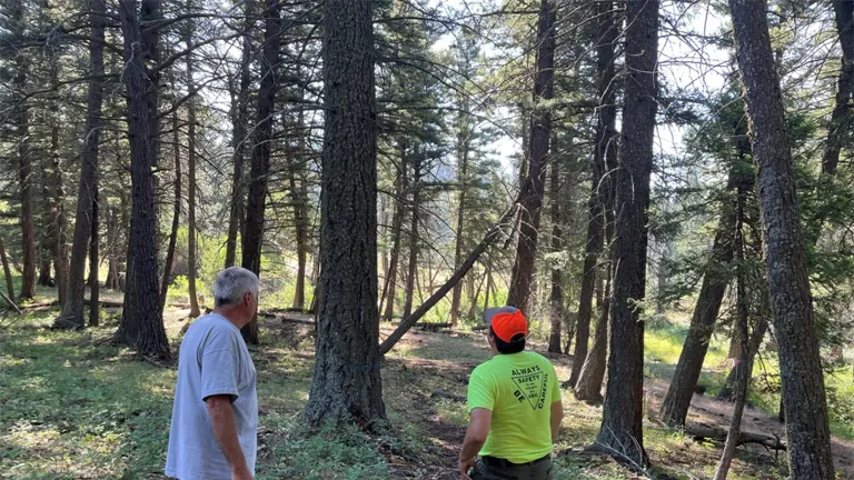
[[(177, 352), (187, 310), (170, 309), (167, 330)], [(14, 324), (0, 322), (0, 478), (162, 479), (176, 370), (138, 361), (105, 341), (115, 331), (117, 311), (105, 327), (82, 332), (39, 328), (54, 309), (28, 313)], [(390, 332), (383, 327), (383, 336)], [(483, 333), (413, 331), (386, 356), (384, 399), (391, 429), (369, 437), (357, 429), (307, 436), (299, 414), (308, 399), (314, 339), (311, 327), (265, 319), (261, 346), (252, 349), (260, 402), (259, 479), (454, 479), (467, 424), (465, 403), (436, 391), (465, 397), (469, 373), (489, 358)], [(681, 430), (655, 421), (673, 370), (672, 330), (649, 329), (645, 382), (644, 442), (655, 478), (711, 478), (721, 444), (695, 442)], [(544, 350), (534, 344), (534, 349)], [(711, 349), (701, 382), (714, 388), (726, 366)], [(549, 356), (560, 378), (572, 357)], [(577, 402), (564, 391), (566, 419), (557, 446), (559, 479), (639, 478), (614, 461), (587, 454), (602, 408)], [(725, 429), (732, 406), (694, 397), (689, 423)], [(774, 416), (745, 412), (746, 431), (784, 437)], [(841, 478), (854, 479), (854, 443), (834, 439)], [(786, 478), (785, 453), (739, 448), (729, 478)]]

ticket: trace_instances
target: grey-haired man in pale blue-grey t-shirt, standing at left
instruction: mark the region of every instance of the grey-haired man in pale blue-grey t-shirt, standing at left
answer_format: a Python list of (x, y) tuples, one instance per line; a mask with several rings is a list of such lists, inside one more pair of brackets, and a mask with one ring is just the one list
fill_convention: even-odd
[(258, 396), (240, 328), (258, 309), (258, 277), (228, 268), (214, 283), (214, 311), (196, 320), (181, 343), (166, 474), (251, 480)]

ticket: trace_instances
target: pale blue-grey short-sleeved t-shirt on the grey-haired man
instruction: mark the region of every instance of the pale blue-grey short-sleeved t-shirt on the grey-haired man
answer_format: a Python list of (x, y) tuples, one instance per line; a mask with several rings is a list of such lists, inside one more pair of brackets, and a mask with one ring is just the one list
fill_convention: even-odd
[(258, 442), (256, 373), (240, 330), (218, 313), (196, 320), (187, 330), (178, 359), (167, 477), (180, 480), (230, 480), (222, 449), (214, 434), (205, 400), (231, 396), (237, 437), (255, 474)]

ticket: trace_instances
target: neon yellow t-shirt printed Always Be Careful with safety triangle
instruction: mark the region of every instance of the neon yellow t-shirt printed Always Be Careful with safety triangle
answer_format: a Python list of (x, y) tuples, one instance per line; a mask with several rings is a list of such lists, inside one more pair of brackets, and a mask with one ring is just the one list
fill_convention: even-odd
[(479, 364), (468, 380), (468, 411), (491, 410), (493, 422), (480, 456), (525, 463), (552, 452), (552, 403), (560, 387), (542, 354), (497, 354)]

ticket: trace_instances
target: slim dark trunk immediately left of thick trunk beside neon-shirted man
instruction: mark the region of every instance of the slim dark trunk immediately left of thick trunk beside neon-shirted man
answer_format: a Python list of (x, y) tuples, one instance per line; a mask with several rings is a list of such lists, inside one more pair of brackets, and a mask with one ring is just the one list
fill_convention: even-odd
[[(614, 42), (617, 40), (618, 28), (610, 1), (597, 3), (599, 24), (596, 29), (596, 70), (598, 74), (596, 114), (596, 146), (594, 147), (593, 174), (590, 176), (589, 217), (587, 223), (586, 256), (582, 277), (582, 291), (578, 296), (578, 318), (575, 327), (575, 360), (569, 374), (569, 384), (575, 386), (582, 373), (582, 367), (587, 359), (587, 343), (590, 337), (590, 317), (593, 316), (593, 290), (596, 283), (596, 264), (603, 248), (604, 208), (608, 191), (606, 171), (616, 167), (617, 149), (615, 104), (615, 67)], [(608, 183), (605, 183), (608, 182)], [(612, 203), (613, 204), (613, 203)], [(604, 351), (604, 350), (603, 350)], [(603, 366), (604, 367), (604, 366)], [(598, 390), (596, 391), (598, 396)]]

